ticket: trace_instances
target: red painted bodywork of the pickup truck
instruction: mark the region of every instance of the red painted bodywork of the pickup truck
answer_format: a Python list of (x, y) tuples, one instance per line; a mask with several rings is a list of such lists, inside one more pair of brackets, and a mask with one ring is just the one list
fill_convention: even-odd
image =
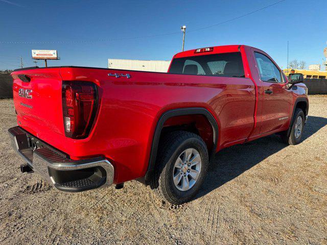
[[(245, 78), (79, 67), (14, 71), (13, 94), (17, 123), (72, 159), (91, 156), (108, 158), (115, 168), (115, 183), (145, 175), (157, 121), (162, 113), (170, 109), (203, 107), (211, 112), (219, 127), (216, 151), (286, 130), (295, 100), (307, 96), (304, 89), (297, 92), (287, 90), (287, 83), (262, 82), (255, 65), (255, 49), (252, 47), (216, 46), (212, 52), (194, 53), (195, 50), (191, 50), (178, 53), (174, 58), (239, 52), (239, 47)], [(128, 73), (131, 78), (109, 77), (109, 72)], [(22, 82), (18, 74), (30, 76), (31, 82)], [(94, 126), (85, 139), (65, 136), (62, 81), (87, 81), (98, 86), (98, 111)], [(274, 96), (264, 94), (268, 87), (276, 90)], [(32, 89), (33, 99), (19, 97), (19, 88)], [(20, 103), (30, 105), (33, 109)], [(287, 120), (278, 120), (286, 114)], [(187, 122), (190, 118), (184, 116), (180, 120)], [(167, 125), (176, 123), (178, 118), (166, 122)], [(202, 119), (197, 123), (202, 128), (201, 137), (212, 134), (209, 130), (205, 131), (207, 125)]]

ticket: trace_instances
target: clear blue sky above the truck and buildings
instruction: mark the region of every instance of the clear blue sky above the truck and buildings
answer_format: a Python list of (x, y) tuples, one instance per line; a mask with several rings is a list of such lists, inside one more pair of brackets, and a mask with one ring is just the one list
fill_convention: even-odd
[(322, 64), (326, 9), (325, 0), (0, 0), (0, 69), (20, 68), (20, 56), (35, 66), (31, 50), (57, 50), (60, 60), (48, 66), (170, 60), (181, 51), (183, 25), (185, 50), (246, 44), (286, 68), (289, 41), (289, 61)]

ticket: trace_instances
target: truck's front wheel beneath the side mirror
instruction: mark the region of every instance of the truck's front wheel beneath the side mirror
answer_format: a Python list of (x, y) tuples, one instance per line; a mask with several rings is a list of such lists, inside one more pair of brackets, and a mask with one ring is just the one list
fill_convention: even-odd
[(300, 108), (296, 108), (290, 125), (290, 130), (283, 132), (281, 135), (283, 142), (291, 145), (300, 143), (303, 135), (304, 126), (305, 113)]

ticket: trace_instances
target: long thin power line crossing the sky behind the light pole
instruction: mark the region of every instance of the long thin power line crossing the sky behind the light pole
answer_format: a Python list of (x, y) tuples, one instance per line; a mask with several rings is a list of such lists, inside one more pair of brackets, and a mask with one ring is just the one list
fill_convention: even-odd
[[(282, 0), (282, 1), (278, 1), (276, 3), (267, 5), (261, 9), (257, 9), (254, 11), (251, 11), (249, 13), (216, 23), (216, 24), (212, 24), (211, 26), (207, 26), (207, 27), (202, 27), (202, 28), (198, 28), (195, 30), (191, 30), (189, 32), (196, 32), (196, 31), (200, 31), (203, 29), (208, 29), (208, 28), (212, 28), (212, 27), (216, 27), (219, 26), (221, 24), (236, 20), (236, 19), (240, 19), (243, 18), (247, 15), (251, 15), (253, 13), (262, 11), (264, 9), (270, 8), (274, 5), (280, 4), (285, 2), (286, 0)], [(170, 35), (176, 35), (176, 34), (180, 34), (180, 32), (171, 32), (171, 33), (164, 33), (164, 34), (154, 34), (154, 35), (148, 35), (148, 36), (139, 36), (139, 37), (125, 37), (125, 38), (112, 38), (112, 39), (97, 39), (97, 40), (72, 40), (72, 41), (27, 41), (27, 42), (23, 42), (23, 41), (0, 41), (0, 43), (3, 44), (60, 44), (60, 43), (89, 43), (89, 42), (107, 42), (107, 41), (120, 41), (120, 40), (131, 40), (131, 39), (142, 39), (142, 38), (151, 38), (151, 37), (161, 37), (161, 36), (170, 36)]]

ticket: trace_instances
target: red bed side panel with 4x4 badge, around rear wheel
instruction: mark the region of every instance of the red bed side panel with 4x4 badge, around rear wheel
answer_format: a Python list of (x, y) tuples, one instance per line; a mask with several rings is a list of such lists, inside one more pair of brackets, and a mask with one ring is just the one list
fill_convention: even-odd
[(67, 138), (67, 153), (114, 159), (118, 182), (144, 176), (156, 122), (167, 110), (206, 108), (218, 122), (218, 148), (245, 139), (253, 127), (255, 90), (250, 79), (68, 67), (60, 74), (63, 80), (96, 83), (101, 97), (94, 130), (86, 139)]

